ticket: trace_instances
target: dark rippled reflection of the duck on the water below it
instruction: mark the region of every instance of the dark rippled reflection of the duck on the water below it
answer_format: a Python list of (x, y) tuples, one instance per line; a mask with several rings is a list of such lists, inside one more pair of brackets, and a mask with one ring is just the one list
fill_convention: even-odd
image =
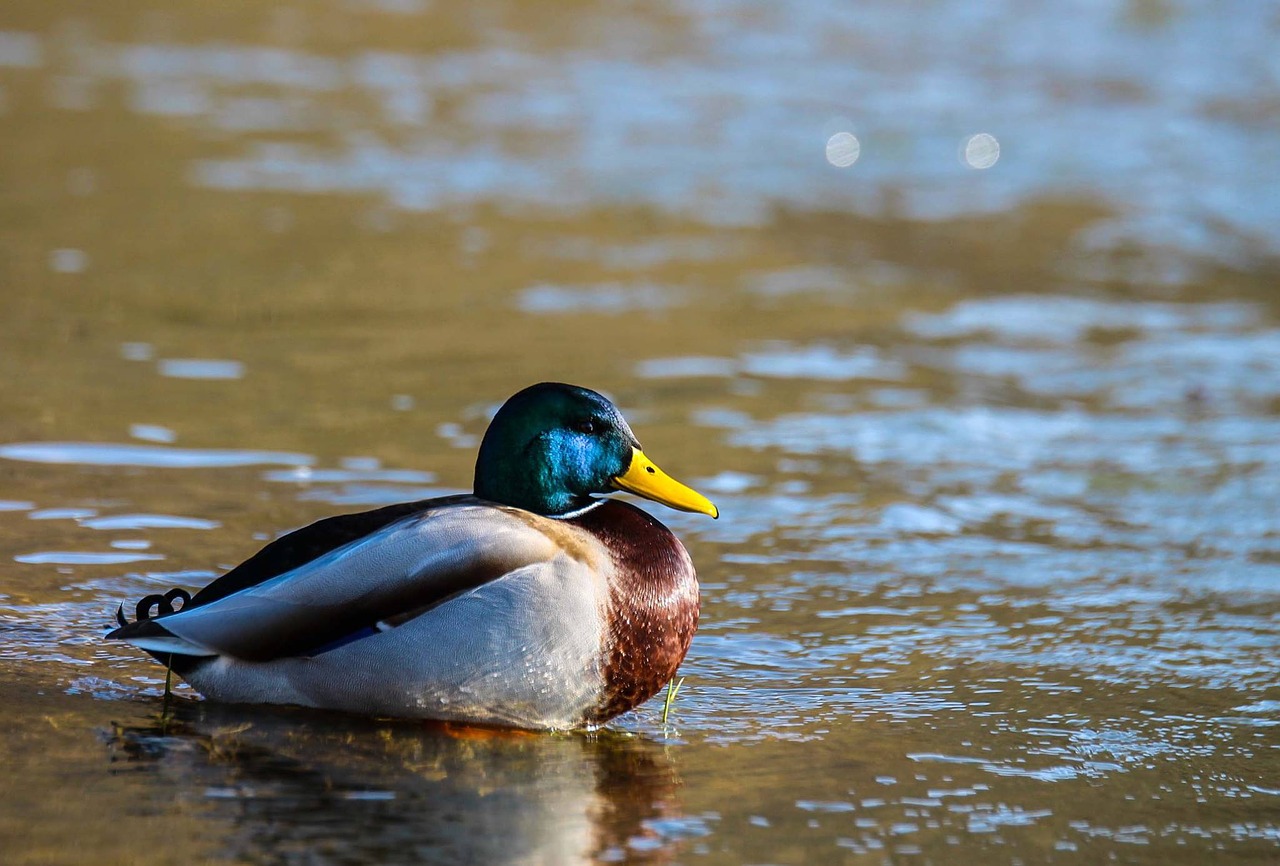
[[(113, 773), (198, 802), (243, 862), (669, 862), (680, 816), (663, 747), (177, 701), (108, 736)], [(173, 791), (163, 791), (170, 787)], [(220, 829), (214, 831), (220, 834)], [(206, 837), (209, 838), (209, 837)], [(216, 838), (216, 835), (215, 835)]]

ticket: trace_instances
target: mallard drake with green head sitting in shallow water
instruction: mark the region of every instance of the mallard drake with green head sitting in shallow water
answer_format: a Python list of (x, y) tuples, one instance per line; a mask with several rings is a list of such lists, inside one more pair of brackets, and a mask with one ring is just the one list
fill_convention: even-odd
[[(494, 416), (475, 492), (330, 517), (195, 595), (147, 596), (127, 641), (205, 697), (517, 728), (595, 725), (653, 697), (698, 627), (698, 578), (626, 490), (718, 517), (617, 407), (559, 382)], [(175, 610), (174, 606), (178, 605)]]

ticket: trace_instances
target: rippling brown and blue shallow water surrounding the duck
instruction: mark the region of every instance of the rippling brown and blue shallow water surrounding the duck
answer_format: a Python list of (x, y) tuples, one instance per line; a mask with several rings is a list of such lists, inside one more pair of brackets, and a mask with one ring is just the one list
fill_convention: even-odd
[[(4, 861), (1274, 862), (1277, 36), (8, 3)], [(703, 582), (667, 724), (163, 712), (102, 645), (280, 532), (466, 489), (543, 379), (721, 507), (654, 507)]]

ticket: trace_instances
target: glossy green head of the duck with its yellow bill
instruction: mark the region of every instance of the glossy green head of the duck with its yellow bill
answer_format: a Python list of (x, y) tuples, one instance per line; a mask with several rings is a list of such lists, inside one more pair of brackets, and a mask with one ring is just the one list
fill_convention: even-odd
[(586, 388), (526, 388), (498, 409), (480, 443), (481, 499), (554, 517), (614, 490), (718, 517), (705, 496), (654, 466), (618, 408)]

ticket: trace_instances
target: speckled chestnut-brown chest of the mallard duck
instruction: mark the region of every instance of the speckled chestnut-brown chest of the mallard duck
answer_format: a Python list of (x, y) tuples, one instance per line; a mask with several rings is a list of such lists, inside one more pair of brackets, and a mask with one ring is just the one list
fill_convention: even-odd
[(608, 500), (575, 523), (613, 560), (604, 693), (586, 718), (603, 723), (648, 701), (676, 674), (698, 629), (698, 576), (680, 540), (639, 508)]

